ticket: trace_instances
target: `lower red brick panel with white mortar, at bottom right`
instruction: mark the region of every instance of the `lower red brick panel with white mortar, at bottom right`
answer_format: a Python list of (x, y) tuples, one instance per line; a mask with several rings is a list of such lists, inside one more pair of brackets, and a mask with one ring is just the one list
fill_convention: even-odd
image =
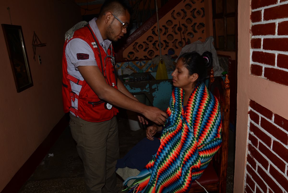
[(288, 192), (288, 120), (249, 103), (245, 192)]

